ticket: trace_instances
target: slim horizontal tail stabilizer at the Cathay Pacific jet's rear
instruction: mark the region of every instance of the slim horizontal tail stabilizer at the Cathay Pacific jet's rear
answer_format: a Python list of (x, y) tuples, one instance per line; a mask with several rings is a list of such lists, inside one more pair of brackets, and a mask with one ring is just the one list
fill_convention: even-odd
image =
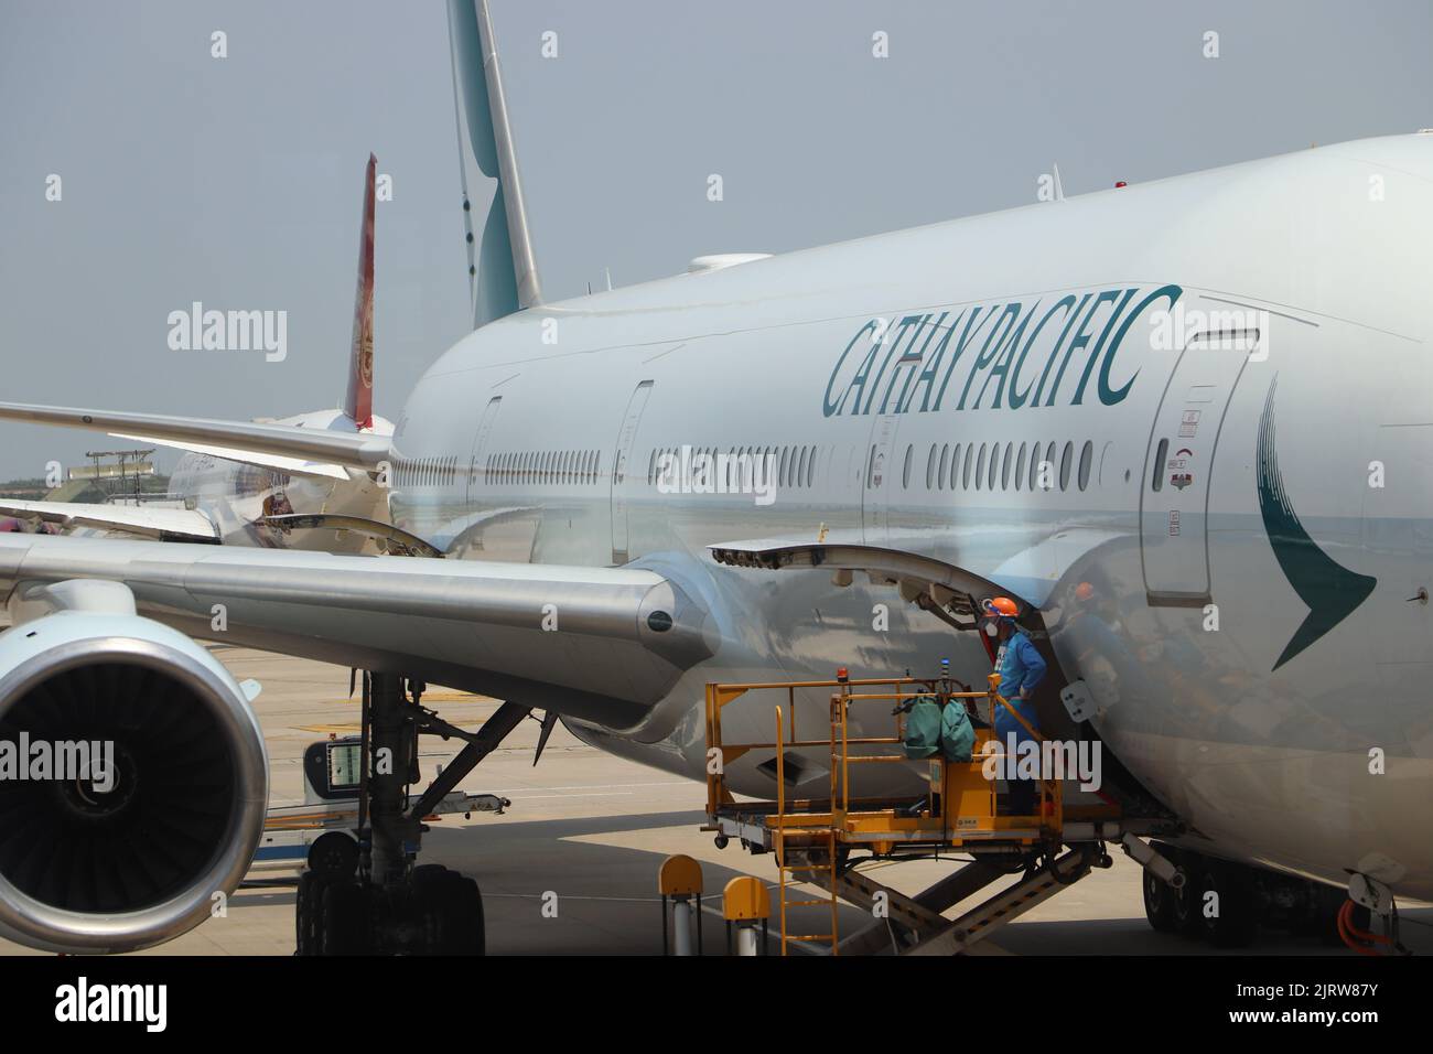
[[(72, 406), (30, 406), (0, 403), (0, 420), (59, 424), (93, 429), (145, 442), (183, 446), (202, 443), (224, 447), (221, 456), (251, 460), (246, 455), (292, 457), (322, 466), (368, 472), (388, 457), (388, 437), (361, 432), (327, 432), (291, 424), (255, 424), (252, 422), (212, 420), (205, 417), (166, 417), (116, 410), (85, 410)], [(185, 447), (193, 449), (193, 447)], [(264, 463), (264, 462), (257, 462)], [(332, 475), (331, 472), (321, 475)]]

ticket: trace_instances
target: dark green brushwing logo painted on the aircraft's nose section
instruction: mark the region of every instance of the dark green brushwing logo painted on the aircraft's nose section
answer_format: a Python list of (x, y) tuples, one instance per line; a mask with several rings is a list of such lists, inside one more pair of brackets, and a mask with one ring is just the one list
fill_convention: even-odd
[(1284, 578), (1298, 598), (1308, 605), (1308, 615), (1284, 645), (1283, 654), (1270, 673), (1317, 641), (1344, 621), (1363, 604), (1379, 579), (1360, 575), (1334, 561), (1318, 548), (1304, 525), (1298, 522), (1284, 478), (1278, 470), (1274, 449), (1274, 390), (1278, 377), (1268, 386), (1264, 413), (1258, 422), (1258, 511), (1264, 518), (1264, 533), (1274, 549)]

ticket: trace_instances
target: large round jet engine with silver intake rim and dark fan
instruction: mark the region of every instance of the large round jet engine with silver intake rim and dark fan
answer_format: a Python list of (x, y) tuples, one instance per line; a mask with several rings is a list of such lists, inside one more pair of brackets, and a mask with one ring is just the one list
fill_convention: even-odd
[(238, 886), (267, 806), (254, 710), (183, 634), (93, 609), (0, 634), (0, 935), (63, 952), (178, 936)]

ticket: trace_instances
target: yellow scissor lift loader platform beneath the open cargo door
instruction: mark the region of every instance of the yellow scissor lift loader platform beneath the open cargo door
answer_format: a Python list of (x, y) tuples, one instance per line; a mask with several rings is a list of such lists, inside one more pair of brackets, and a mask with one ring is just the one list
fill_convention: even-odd
[[(704, 829), (716, 832), (718, 845), (739, 837), (754, 850), (775, 855), (782, 955), (788, 954), (792, 942), (824, 945), (831, 954), (871, 954), (890, 948), (894, 931), (884, 921), (844, 941), (838, 932), (841, 899), (868, 909), (881, 898), (886, 918), (907, 934), (906, 945), (897, 948), (901, 954), (964, 952), (999, 926), (1078, 882), (1091, 868), (1109, 866), (1103, 846), (1106, 840), (1121, 837), (1118, 806), (1066, 806), (1060, 779), (1040, 779), (1037, 815), (1000, 815), (996, 782), (987, 779), (984, 771), (986, 759), (1000, 753), (993, 733), (997, 708), (1009, 710), (1042, 749), (1045, 739), (1000, 697), (997, 684), (999, 677), (992, 674), (986, 691), (957, 691), (960, 685), (949, 677), (850, 680), (840, 671), (833, 681), (706, 685), (706, 756), (711, 759), (712, 751), (718, 751), (715, 757), (721, 759), (721, 764), (709, 766), (706, 776), (708, 825)], [(834, 690), (830, 728), (820, 739), (802, 740), (797, 730), (795, 693), (810, 688)], [(770, 693), (785, 694), (785, 707), (775, 703), (775, 739), (770, 743), (727, 743), (722, 737), (722, 710), (749, 693), (765, 693), (768, 697)], [(904, 704), (917, 697), (933, 698), (941, 711), (947, 703), (957, 700), (967, 710), (974, 710), (976, 717), (984, 718), (986, 727), (976, 730), (970, 761), (947, 761), (939, 753), (920, 761), (907, 759), (901, 751)], [(894, 734), (853, 737), (848, 716), (857, 706), (890, 707)], [(794, 747), (830, 750), (827, 799), (787, 797), (785, 751)], [(737, 802), (727, 789), (727, 766), (751, 750), (775, 751), (774, 802)], [(853, 797), (851, 769), (867, 764), (929, 764), (924, 809), (916, 810), (910, 797)], [(1062, 855), (1065, 848), (1068, 850)], [(847, 868), (853, 849), (890, 859), (940, 856), (946, 852), (972, 859), (924, 892), (906, 896)], [(952, 905), (1015, 873), (1022, 878), (976, 908), (954, 919), (941, 915)], [(825, 895), (801, 895), (795, 888), (802, 885), (818, 886)], [(788, 909), (815, 906), (830, 911), (828, 924), (821, 924), (828, 928), (792, 932)]]

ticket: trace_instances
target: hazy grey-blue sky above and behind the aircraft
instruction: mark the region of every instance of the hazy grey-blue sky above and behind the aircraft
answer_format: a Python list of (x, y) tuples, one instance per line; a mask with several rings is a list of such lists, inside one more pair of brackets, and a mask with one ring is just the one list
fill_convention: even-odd
[[(492, 6), (549, 300), (603, 267), (629, 284), (704, 252), (1023, 205), (1052, 162), (1069, 195), (1433, 125), (1427, 0)], [(394, 188), (377, 218), (377, 412), (397, 419), (464, 333), (438, 0), (0, 0), (0, 122), (3, 400), (337, 406), (370, 151)], [(171, 350), (166, 318), (192, 301), (287, 311), (287, 359)], [(122, 445), (0, 424), (0, 478)]]

